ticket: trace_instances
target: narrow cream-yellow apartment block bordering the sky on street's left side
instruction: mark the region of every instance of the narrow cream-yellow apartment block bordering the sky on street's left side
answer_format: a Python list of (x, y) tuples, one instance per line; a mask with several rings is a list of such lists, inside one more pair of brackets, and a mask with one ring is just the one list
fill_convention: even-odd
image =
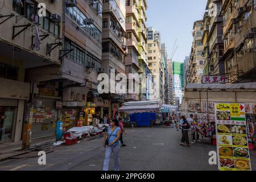
[[(146, 0), (138, 0), (139, 3), (139, 73), (146, 76), (149, 72), (148, 70), (148, 61), (147, 61), (147, 28), (146, 28), (146, 21), (147, 21), (147, 2)], [(146, 76), (147, 80), (147, 76)], [(148, 100), (147, 97), (147, 89), (148, 85), (146, 85), (145, 79), (140, 80), (139, 86), (139, 100)]]

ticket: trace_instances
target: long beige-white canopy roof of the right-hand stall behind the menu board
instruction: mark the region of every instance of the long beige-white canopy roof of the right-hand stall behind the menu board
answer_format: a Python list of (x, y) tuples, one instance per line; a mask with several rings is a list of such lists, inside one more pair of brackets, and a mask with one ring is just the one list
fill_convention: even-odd
[(187, 84), (181, 111), (188, 110), (188, 101), (256, 102), (256, 82), (246, 84)]

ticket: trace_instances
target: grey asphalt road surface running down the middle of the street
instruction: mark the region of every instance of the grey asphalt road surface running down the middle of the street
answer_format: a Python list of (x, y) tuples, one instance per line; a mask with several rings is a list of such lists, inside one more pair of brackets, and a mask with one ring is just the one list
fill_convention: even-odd
[[(207, 143), (180, 146), (181, 131), (171, 128), (135, 128), (127, 129), (124, 141), (127, 147), (120, 151), (120, 169), (122, 171), (170, 171), (170, 170), (217, 170), (217, 166), (208, 163), (209, 151), (216, 146)], [(54, 148), (46, 155), (46, 165), (38, 164), (34, 158), (9, 159), (0, 162), (0, 170), (87, 170), (101, 171), (105, 148), (103, 138), (90, 141), (81, 140), (73, 146)], [(251, 152), (251, 163), (256, 170), (256, 152)], [(113, 169), (113, 156), (110, 170)]]

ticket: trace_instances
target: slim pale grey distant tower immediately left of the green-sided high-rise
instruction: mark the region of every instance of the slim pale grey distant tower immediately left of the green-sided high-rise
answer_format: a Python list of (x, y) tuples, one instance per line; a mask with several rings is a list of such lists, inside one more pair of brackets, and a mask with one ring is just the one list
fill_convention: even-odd
[(174, 104), (175, 102), (175, 92), (174, 92), (174, 75), (172, 69), (172, 60), (167, 60), (167, 101), (166, 104)]

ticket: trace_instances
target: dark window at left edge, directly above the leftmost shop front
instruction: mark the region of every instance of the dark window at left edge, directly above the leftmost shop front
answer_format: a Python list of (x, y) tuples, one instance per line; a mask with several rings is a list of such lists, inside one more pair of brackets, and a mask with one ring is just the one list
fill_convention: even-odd
[(0, 78), (18, 80), (18, 67), (0, 63)]

